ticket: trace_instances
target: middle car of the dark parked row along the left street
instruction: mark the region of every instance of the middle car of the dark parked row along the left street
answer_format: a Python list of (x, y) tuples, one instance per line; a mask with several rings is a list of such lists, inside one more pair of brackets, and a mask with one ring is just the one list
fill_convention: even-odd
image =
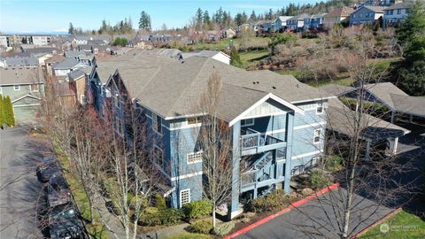
[(47, 186), (47, 203), (50, 207), (66, 204), (71, 201), (71, 190), (62, 174), (50, 178)]

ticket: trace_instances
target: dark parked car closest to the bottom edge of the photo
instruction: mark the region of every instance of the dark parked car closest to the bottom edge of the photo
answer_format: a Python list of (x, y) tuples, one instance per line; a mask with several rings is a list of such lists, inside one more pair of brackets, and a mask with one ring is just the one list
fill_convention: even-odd
[(84, 227), (73, 204), (61, 204), (50, 208), (50, 238), (84, 238)]

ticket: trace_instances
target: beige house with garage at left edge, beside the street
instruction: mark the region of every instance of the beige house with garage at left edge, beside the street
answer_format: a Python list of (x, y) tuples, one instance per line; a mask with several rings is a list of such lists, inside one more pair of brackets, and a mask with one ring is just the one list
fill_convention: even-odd
[(34, 123), (44, 95), (44, 76), (39, 67), (0, 69), (0, 94), (12, 99), (18, 125)]

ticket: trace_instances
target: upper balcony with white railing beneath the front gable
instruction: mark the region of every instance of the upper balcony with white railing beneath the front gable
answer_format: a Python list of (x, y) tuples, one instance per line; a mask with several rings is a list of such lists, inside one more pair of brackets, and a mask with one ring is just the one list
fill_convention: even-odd
[(241, 155), (252, 155), (268, 150), (286, 147), (286, 142), (272, 135), (261, 135), (258, 131), (248, 128), (241, 135)]

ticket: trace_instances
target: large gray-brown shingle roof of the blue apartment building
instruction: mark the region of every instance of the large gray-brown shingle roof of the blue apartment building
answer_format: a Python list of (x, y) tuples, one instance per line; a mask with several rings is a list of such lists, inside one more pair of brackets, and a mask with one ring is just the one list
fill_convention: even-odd
[[(106, 81), (109, 75), (119, 69), (129, 94), (139, 99), (143, 106), (163, 117), (178, 117), (190, 113), (213, 73), (218, 73), (225, 84), (244, 88), (238, 92), (255, 96), (253, 100), (258, 100), (259, 97), (258, 94), (248, 94), (251, 90), (263, 91), (260, 96), (274, 93), (294, 104), (329, 97), (328, 94), (299, 82), (291, 75), (270, 71), (247, 72), (213, 58), (192, 57), (182, 63), (172, 58), (157, 56), (156, 52), (135, 50), (128, 56), (97, 62), (97, 73), (102, 81)], [(235, 102), (240, 104), (241, 100), (235, 98)]]

